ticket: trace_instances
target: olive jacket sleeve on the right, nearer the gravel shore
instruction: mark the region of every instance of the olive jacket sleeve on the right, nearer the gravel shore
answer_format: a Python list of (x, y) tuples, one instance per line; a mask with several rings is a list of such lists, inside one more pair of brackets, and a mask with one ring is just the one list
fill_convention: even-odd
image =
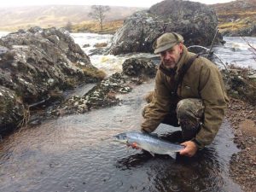
[(217, 67), (201, 68), (199, 92), (205, 106), (204, 119), (201, 130), (195, 139), (202, 147), (212, 143), (224, 119), (224, 110), (228, 97), (224, 90), (224, 83)]

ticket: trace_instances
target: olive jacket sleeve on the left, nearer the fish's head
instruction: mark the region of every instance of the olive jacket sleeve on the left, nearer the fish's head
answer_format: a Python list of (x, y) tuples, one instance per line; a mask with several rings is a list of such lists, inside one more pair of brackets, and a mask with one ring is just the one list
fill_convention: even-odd
[(155, 77), (153, 99), (144, 112), (144, 121), (141, 125), (142, 131), (152, 132), (160, 125), (160, 122), (169, 113), (170, 101), (171, 96), (165, 85), (164, 75), (158, 70)]

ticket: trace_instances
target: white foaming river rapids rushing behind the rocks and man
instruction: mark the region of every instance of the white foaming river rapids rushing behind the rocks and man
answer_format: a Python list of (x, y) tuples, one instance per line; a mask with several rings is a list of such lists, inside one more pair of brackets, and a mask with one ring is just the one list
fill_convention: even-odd
[[(0, 38), (7, 35), (9, 32), (0, 32)], [(79, 44), (87, 55), (90, 55), (92, 49), (97, 43), (110, 44), (113, 35), (100, 35), (96, 33), (71, 33), (75, 43)], [(245, 37), (247, 42), (256, 47), (255, 37)], [(253, 49), (240, 37), (224, 37), (226, 44), (214, 47), (214, 53), (219, 58), (228, 64), (235, 64), (239, 67), (252, 67), (256, 69), (256, 55), (253, 53)], [(90, 44), (90, 46), (83, 48), (84, 44)], [(90, 55), (90, 61), (99, 69), (105, 71), (108, 75), (121, 72), (122, 63), (125, 59), (131, 57), (154, 57), (154, 54), (137, 53), (126, 55)]]

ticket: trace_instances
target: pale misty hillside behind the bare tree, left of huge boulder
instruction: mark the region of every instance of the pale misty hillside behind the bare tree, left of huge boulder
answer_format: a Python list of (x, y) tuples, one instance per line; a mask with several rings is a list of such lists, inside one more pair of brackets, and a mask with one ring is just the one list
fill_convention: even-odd
[[(124, 20), (143, 8), (110, 6), (106, 20)], [(88, 14), (90, 5), (45, 5), (32, 7), (0, 8), (0, 31), (15, 31), (31, 26), (65, 26), (92, 20)]]

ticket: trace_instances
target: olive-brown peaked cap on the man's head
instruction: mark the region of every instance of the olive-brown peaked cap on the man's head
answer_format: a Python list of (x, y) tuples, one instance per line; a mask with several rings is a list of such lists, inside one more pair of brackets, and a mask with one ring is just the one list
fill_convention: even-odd
[(159, 54), (166, 49), (171, 49), (175, 44), (183, 42), (184, 39), (180, 34), (176, 32), (166, 32), (154, 41), (154, 54)]

